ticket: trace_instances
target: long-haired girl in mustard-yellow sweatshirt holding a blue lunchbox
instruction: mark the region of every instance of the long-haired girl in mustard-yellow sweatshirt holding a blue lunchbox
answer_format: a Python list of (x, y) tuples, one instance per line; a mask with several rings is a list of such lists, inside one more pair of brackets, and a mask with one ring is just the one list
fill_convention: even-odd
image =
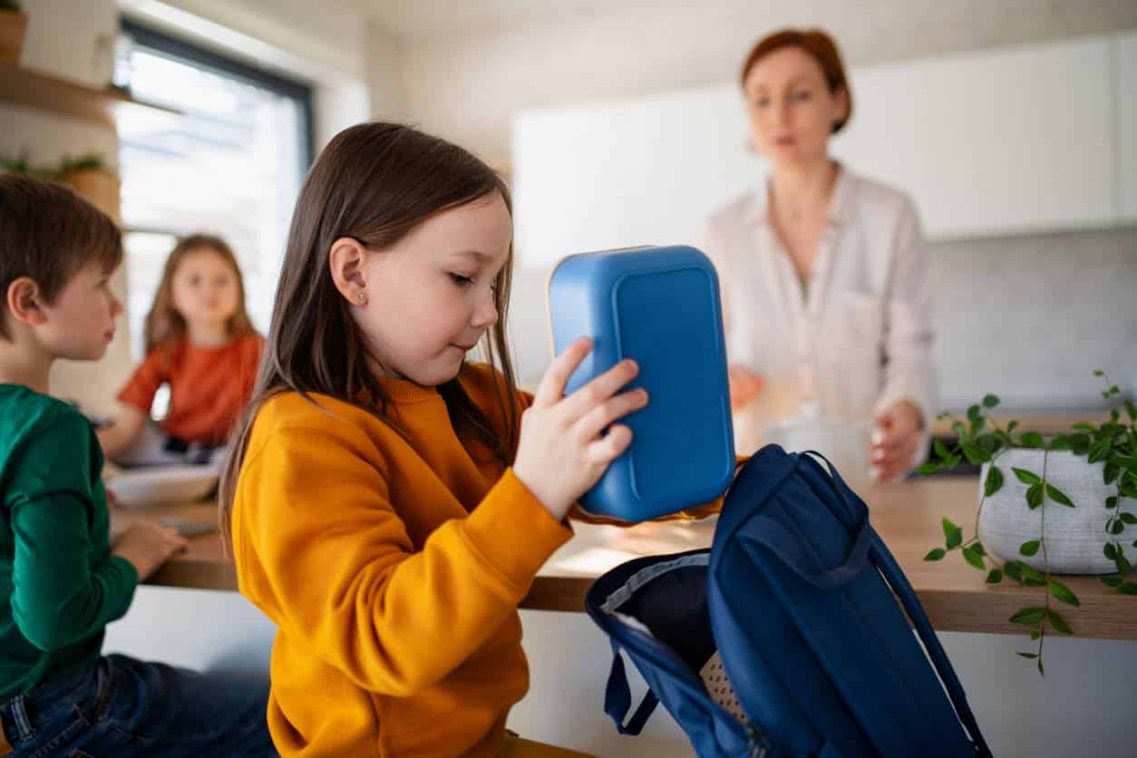
[(341, 132), (300, 191), (221, 493), (284, 756), (579, 755), (506, 732), (517, 605), (648, 399), (632, 361), (564, 397), (587, 340), (518, 393), (512, 236), (505, 183), (405, 126)]

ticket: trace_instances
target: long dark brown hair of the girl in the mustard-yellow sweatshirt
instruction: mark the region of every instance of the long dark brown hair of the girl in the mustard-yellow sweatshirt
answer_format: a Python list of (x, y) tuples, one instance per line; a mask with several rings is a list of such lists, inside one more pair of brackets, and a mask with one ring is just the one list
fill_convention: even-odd
[[(296, 203), (260, 373), (222, 472), (218, 516), (226, 549), (232, 548), (241, 463), (266, 400), (282, 392), (326, 394), (399, 431), (387, 414), (390, 397), (368, 368), (364, 335), (332, 281), (332, 243), (352, 238), (381, 253), (432, 216), (493, 192), (512, 213), (508, 188), (482, 160), (399, 124), (358, 124), (337, 134), (319, 153)], [(512, 268), (511, 243), (495, 288), (498, 320), (485, 345), (490, 364), (504, 377), (496, 383), (504, 432), (495, 430), (457, 378), (438, 388), (455, 426), (484, 443), (503, 465), (516, 452), (517, 390), (505, 328)]]

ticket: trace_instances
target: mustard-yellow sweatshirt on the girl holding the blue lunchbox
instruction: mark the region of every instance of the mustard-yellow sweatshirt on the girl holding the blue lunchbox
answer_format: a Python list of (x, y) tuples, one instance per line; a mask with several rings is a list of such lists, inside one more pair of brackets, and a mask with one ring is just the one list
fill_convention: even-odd
[[(492, 376), (462, 382), (500, 424)], [(326, 395), (257, 414), (233, 550), (279, 627), (268, 725), (283, 756), (496, 756), (529, 686), (517, 605), (572, 531), (434, 390), (384, 388), (407, 439)]]

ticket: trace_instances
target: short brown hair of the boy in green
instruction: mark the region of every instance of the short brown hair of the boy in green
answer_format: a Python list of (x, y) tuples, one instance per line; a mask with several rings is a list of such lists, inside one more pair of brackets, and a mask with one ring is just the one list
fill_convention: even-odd
[[(115, 222), (61, 184), (0, 174), (0, 297), (22, 276), (35, 280), (47, 305), (90, 261), (107, 272), (123, 260)], [(11, 340), (7, 307), (0, 339)]]

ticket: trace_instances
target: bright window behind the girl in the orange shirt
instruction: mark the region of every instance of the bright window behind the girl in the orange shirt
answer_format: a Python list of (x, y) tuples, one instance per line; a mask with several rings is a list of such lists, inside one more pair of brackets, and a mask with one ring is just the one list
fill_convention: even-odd
[(288, 226), (312, 163), (312, 90), (122, 22), (115, 78), (180, 114), (118, 122), (132, 355), (180, 236), (218, 234), (244, 275), (254, 324), (267, 332)]

